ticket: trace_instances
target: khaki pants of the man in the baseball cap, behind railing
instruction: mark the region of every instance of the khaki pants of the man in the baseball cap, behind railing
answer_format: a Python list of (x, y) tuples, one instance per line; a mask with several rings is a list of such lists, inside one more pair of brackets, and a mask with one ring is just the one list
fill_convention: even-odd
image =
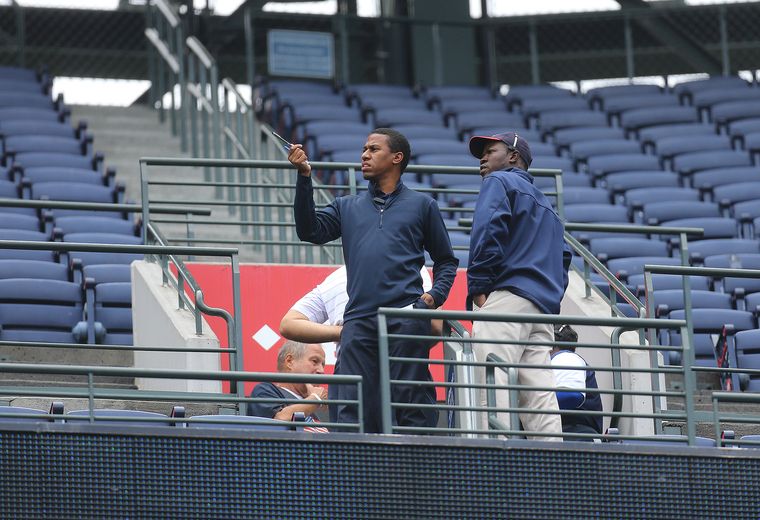
[[(509, 291), (494, 291), (486, 300), (483, 307), (475, 310), (504, 314), (540, 314), (541, 311), (532, 302), (521, 298)], [(505, 323), (494, 321), (476, 321), (473, 323), (472, 335), (475, 338), (499, 339), (518, 341), (553, 341), (553, 328), (548, 324), (541, 323)], [(536, 365), (549, 365), (551, 347), (532, 345), (507, 345), (490, 343), (473, 343), (475, 359), (478, 362), (486, 361), (488, 354), (493, 353), (504, 360), (505, 363), (533, 363)], [(497, 385), (508, 384), (508, 376), (505, 370), (495, 370), (495, 382)], [(521, 385), (533, 385), (549, 387), (554, 386), (554, 373), (551, 368), (518, 369), (518, 383)], [(485, 384), (485, 369), (476, 368), (475, 382)], [(480, 391), (481, 406), (486, 405), (486, 392)], [(550, 390), (522, 390), (519, 393), (520, 408), (534, 410), (559, 411), (557, 396)], [(498, 408), (509, 407), (509, 391), (496, 391), (496, 406)], [(480, 428), (488, 428), (488, 414), (479, 414)], [(503, 424), (509, 424), (509, 414), (500, 412), (497, 418)], [(561, 442), (562, 420), (559, 414), (535, 414), (521, 413), (520, 421), (529, 439), (541, 441)], [(557, 437), (531, 436), (530, 432), (556, 433)]]

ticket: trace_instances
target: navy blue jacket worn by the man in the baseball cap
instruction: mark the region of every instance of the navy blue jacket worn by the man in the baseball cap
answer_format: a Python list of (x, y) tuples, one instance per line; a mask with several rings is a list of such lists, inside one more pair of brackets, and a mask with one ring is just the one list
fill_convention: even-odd
[(510, 168), (483, 179), (470, 237), (470, 296), (508, 290), (559, 314), (571, 258), (564, 226), (529, 173)]

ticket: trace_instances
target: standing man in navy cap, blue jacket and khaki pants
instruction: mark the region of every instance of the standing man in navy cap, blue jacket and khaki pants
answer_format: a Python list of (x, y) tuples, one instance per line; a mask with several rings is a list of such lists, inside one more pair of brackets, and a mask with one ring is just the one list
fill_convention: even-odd
[[(470, 153), (480, 159), (480, 188), (470, 237), (467, 268), (468, 297), (476, 311), (502, 314), (559, 314), (567, 287), (572, 253), (564, 241), (564, 226), (546, 196), (533, 185), (527, 172), (531, 161), (528, 142), (517, 132), (470, 139)], [(552, 326), (541, 323), (473, 322), (473, 337), (530, 342), (551, 342)], [(506, 363), (545, 365), (518, 370), (520, 385), (553, 387), (550, 350), (545, 345), (475, 344), (476, 360), (493, 353)], [(485, 371), (476, 372), (485, 384)], [(496, 370), (496, 385), (509, 384), (507, 373)], [(481, 390), (481, 403), (486, 404)], [(496, 406), (509, 407), (506, 391), (496, 392)], [(519, 407), (559, 412), (551, 390), (520, 391)], [(503, 425), (509, 414), (498, 413)], [(522, 413), (528, 438), (561, 441), (558, 413)], [(488, 428), (482, 414), (481, 428)], [(556, 436), (531, 436), (531, 432)]]

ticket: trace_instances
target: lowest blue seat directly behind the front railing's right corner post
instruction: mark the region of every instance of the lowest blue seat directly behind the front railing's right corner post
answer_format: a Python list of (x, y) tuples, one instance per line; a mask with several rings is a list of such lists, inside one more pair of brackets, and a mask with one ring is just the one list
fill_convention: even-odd
[[(724, 328), (727, 332), (729, 366), (735, 366), (734, 334), (757, 326), (752, 313), (733, 309), (692, 309), (691, 316), (694, 329), (694, 357), (697, 366), (717, 366), (715, 343), (716, 338), (722, 335)], [(670, 313), (670, 318), (683, 320), (685, 311), (673, 311)], [(668, 344), (681, 345), (680, 333), (669, 331), (667, 338)], [(669, 358), (669, 364), (681, 364), (679, 352), (670, 352)]]

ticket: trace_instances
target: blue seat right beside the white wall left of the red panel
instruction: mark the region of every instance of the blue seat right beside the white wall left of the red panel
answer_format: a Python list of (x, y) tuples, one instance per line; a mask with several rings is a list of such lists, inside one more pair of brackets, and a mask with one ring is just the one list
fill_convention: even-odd
[[(102, 282), (87, 289), (88, 323), (99, 323), (103, 336), (98, 343), (131, 345), (132, 341), (132, 284)], [(90, 317), (90, 309), (93, 309)]]

